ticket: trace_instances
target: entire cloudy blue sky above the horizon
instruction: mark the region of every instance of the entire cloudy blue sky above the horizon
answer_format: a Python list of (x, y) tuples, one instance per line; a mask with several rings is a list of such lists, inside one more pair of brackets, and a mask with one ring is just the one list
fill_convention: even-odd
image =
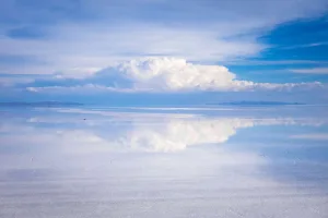
[(2, 0), (0, 101), (328, 102), (326, 0)]

